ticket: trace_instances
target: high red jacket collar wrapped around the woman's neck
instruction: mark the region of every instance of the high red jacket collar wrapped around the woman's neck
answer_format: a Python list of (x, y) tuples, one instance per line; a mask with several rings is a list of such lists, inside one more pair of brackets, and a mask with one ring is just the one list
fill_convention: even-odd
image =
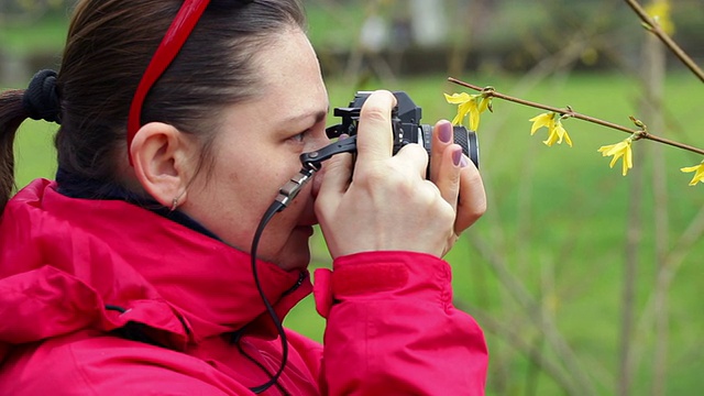
[[(108, 327), (119, 326), (111, 315), (120, 315), (196, 342), (243, 328), (276, 336), (249, 254), (135, 205), (69, 198), (56, 191), (55, 183), (40, 179), (10, 201), (0, 234), (0, 282), (48, 264), (94, 290), (103, 305), (124, 309), (123, 315), (103, 312)], [(311, 290), (307, 272), (256, 265), (279, 318)], [(61, 288), (47, 293), (73, 295)], [(147, 308), (140, 314), (140, 307)], [(50, 308), (30, 315), (46, 317)], [(174, 326), (176, 319), (185, 329)]]

